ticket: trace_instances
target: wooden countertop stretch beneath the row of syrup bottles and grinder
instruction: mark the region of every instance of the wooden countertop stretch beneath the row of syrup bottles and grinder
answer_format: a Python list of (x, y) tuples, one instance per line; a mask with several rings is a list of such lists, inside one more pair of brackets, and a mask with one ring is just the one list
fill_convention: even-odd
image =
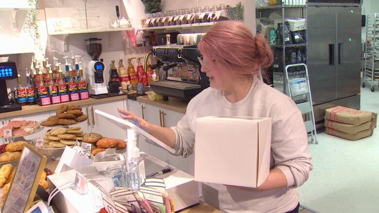
[(115, 97), (109, 97), (109, 98), (99, 98), (99, 99), (89, 98), (89, 99), (85, 99), (85, 100), (69, 101), (69, 102), (65, 102), (65, 103), (52, 104), (52, 105), (47, 105), (47, 106), (39, 106), (36, 104), (35, 105), (27, 105), (27, 106), (22, 106), (22, 110), (19, 110), (19, 111), (1, 113), (0, 119), (1, 118), (7, 118), (7, 117), (32, 115), (35, 113), (48, 112), (51, 110), (56, 110), (62, 104), (83, 106), (83, 105), (92, 105), (92, 104), (97, 104), (97, 103), (104, 103), (104, 102), (108, 102), (108, 101), (122, 100), (124, 98), (126, 98), (126, 94), (122, 95), (122, 96), (115, 96)]

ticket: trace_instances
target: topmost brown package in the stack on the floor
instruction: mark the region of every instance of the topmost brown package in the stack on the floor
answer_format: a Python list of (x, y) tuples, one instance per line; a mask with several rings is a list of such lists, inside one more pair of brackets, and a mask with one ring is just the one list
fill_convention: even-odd
[(336, 106), (325, 111), (325, 119), (358, 126), (371, 121), (372, 113)]

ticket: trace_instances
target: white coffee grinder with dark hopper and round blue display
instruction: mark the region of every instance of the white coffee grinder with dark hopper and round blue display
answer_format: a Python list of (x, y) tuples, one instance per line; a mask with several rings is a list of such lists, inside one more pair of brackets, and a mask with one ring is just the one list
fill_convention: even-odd
[(105, 65), (99, 61), (99, 57), (102, 54), (102, 39), (90, 38), (86, 40), (86, 49), (92, 61), (88, 62), (87, 74), (88, 74), (88, 92), (91, 95), (107, 94), (108, 88), (106, 82), (104, 82), (104, 70)]

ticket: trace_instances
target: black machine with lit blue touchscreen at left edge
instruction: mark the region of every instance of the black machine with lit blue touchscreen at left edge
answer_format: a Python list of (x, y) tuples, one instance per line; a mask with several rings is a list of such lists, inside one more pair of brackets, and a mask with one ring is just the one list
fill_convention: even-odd
[(9, 101), (6, 80), (17, 79), (17, 67), (15, 62), (0, 63), (0, 113), (21, 110), (16, 102)]

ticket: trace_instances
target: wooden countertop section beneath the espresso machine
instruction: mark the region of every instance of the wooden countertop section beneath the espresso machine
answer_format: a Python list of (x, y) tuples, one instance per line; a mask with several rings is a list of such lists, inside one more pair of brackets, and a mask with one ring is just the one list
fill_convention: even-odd
[(169, 98), (169, 100), (150, 100), (148, 96), (139, 96), (136, 98), (137, 101), (153, 105), (159, 108), (172, 110), (174, 112), (186, 114), (187, 110), (187, 101), (184, 101), (179, 98)]

